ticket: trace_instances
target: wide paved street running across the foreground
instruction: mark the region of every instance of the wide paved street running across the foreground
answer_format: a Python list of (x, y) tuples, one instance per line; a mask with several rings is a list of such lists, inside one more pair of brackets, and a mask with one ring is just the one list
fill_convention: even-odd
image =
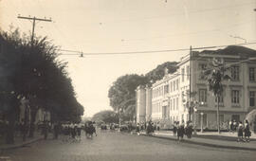
[[(99, 132), (77, 143), (44, 140), (29, 147), (2, 152), (12, 161), (250, 161), (255, 152), (215, 149), (141, 135)], [(1, 160), (1, 157), (0, 157)]]

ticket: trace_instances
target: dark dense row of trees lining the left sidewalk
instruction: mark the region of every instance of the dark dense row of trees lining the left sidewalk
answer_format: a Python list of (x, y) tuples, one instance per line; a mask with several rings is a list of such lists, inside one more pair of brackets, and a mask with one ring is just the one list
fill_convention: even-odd
[(28, 100), (31, 112), (30, 136), (39, 108), (49, 111), (52, 121), (81, 120), (83, 107), (55, 45), (46, 38), (35, 38), (31, 45), (18, 29), (1, 31), (0, 43), (0, 112), (9, 122), (8, 143), (13, 142), (21, 99)]

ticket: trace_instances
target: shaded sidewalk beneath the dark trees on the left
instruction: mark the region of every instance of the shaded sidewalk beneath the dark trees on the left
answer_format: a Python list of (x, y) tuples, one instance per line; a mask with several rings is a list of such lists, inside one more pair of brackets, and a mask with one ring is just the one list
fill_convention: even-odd
[(44, 139), (44, 136), (41, 135), (40, 133), (35, 132), (34, 137), (33, 138), (27, 137), (26, 141), (23, 141), (22, 136), (16, 136), (14, 138), (14, 144), (6, 144), (4, 140), (0, 140), (0, 151), (24, 147), (28, 144), (31, 144), (33, 142), (36, 142), (42, 139)]

